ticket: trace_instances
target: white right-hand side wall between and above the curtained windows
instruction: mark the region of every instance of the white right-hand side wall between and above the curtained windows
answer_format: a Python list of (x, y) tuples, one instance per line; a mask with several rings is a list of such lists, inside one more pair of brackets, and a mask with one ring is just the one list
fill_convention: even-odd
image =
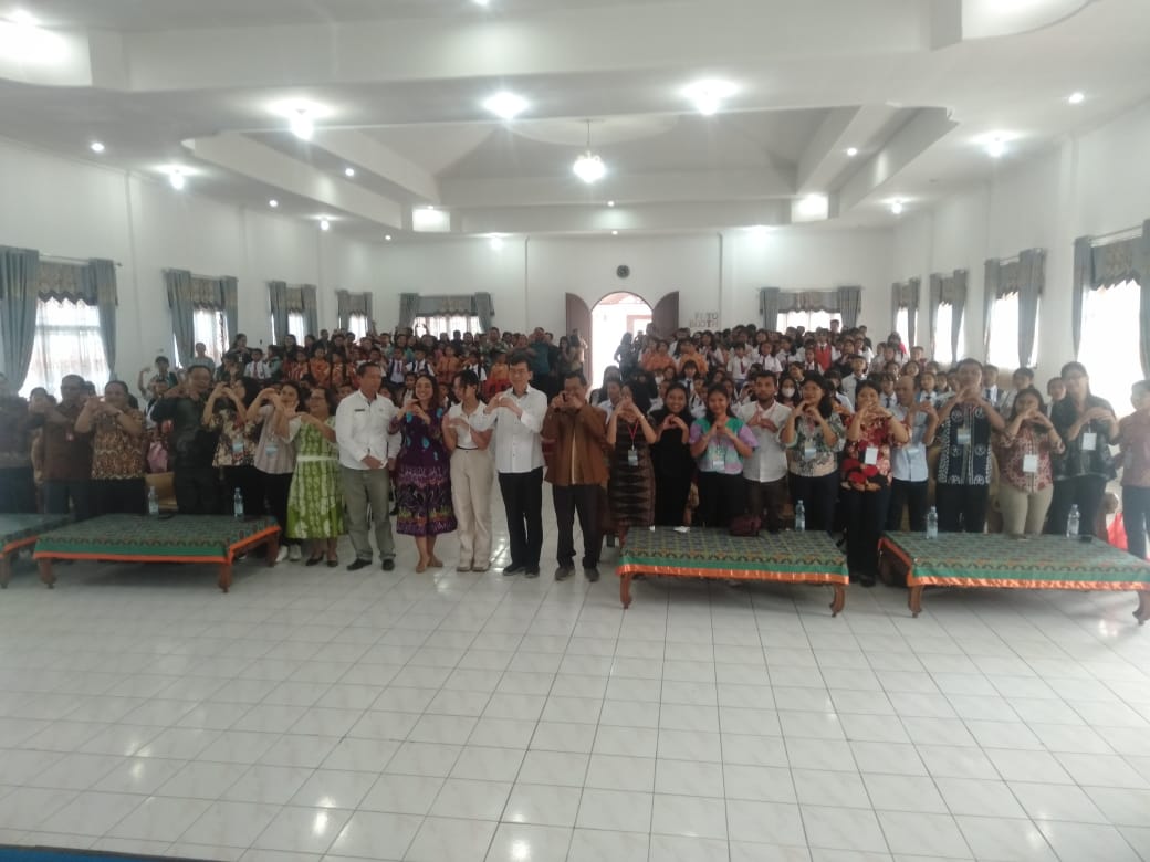
[(1074, 357), (1074, 238), (1137, 228), (1150, 218), (1148, 152), (1150, 102), (1025, 162), (1005, 161), (989, 182), (903, 220), (895, 232), (894, 272), (896, 280), (922, 278), (919, 344), (928, 340), (923, 328), (930, 272), (971, 271), (966, 353), (982, 357), (983, 262), (1045, 248), (1037, 378), (1056, 374)]

